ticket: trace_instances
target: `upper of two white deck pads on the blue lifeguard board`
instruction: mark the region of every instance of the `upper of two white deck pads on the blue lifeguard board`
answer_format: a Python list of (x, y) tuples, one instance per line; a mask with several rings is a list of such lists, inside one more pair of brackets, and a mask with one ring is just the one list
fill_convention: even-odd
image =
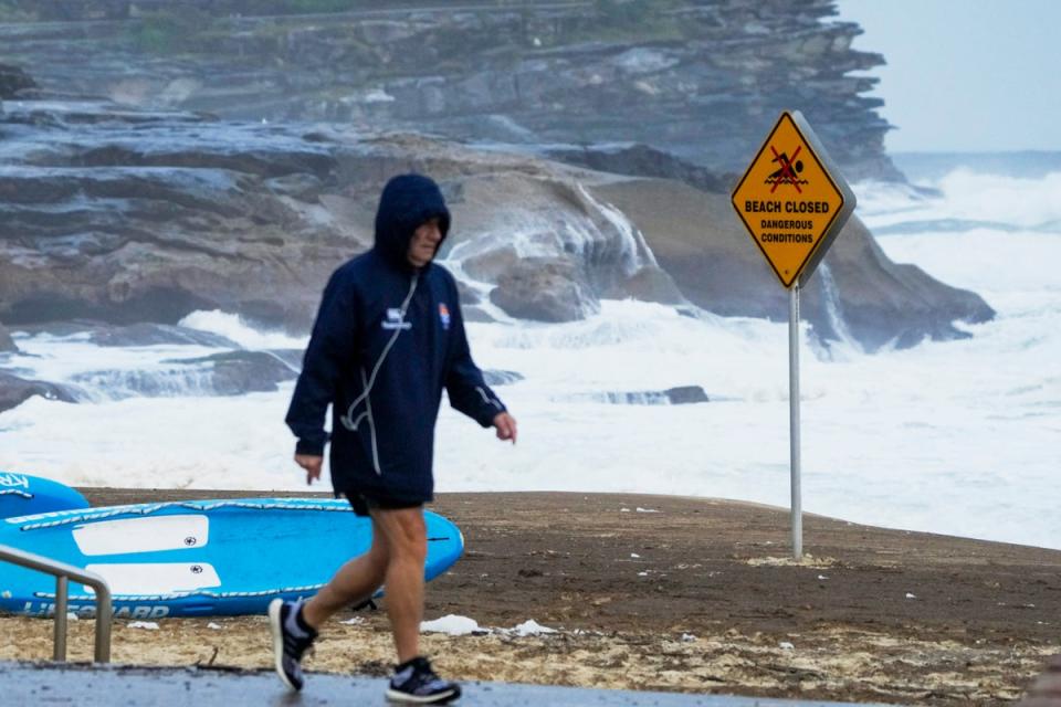
[(77, 549), (90, 557), (183, 550), (210, 541), (210, 519), (200, 514), (120, 518), (77, 526), (73, 535)]

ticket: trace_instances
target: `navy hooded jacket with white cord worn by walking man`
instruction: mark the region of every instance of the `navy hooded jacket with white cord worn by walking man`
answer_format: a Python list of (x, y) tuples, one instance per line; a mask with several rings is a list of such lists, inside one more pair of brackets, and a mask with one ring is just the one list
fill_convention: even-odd
[[(376, 213), (375, 246), (328, 281), (286, 422), (298, 454), (323, 455), (332, 411), (332, 484), (396, 503), (431, 500), (434, 423), (450, 404), (490, 426), (505, 410), (472, 361), (456, 283), (440, 265), (408, 260), (416, 229), (450, 212), (438, 184), (391, 179)], [(440, 243), (441, 245), (441, 243)]]

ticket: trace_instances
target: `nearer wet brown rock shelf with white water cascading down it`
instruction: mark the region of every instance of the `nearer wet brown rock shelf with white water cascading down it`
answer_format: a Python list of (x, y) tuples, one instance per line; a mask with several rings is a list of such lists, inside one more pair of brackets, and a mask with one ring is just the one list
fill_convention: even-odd
[[(306, 330), (327, 275), (371, 243), (380, 188), (438, 179), (440, 254), (469, 318), (564, 321), (603, 297), (785, 316), (726, 197), (411, 135), (366, 135), (8, 102), (0, 116), (0, 320), (174, 323), (220, 308)], [(971, 293), (891, 263), (855, 220), (808, 289), (822, 340), (866, 348), (991, 316)]]

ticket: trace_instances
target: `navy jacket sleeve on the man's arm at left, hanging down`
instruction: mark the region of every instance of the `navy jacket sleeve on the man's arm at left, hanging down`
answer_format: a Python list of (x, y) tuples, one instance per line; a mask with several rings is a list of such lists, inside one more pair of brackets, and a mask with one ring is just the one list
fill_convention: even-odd
[(323, 455), (328, 434), (324, 418), (335, 402), (343, 368), (355, 351), (358, 313), (349, 284), (332, 276), (303, 358), (285, 422), (298, 437), (296, 454)]

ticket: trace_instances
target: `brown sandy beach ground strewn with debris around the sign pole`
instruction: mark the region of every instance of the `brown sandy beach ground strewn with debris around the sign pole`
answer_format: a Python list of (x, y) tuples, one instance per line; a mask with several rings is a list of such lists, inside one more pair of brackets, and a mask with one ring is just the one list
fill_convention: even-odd
[[(93, 505), (231, 495), (82, 490)], [(461, 679), (1001, 705), (1061, 653), (1059, 551), (805, 516), (797, 563), (787, 511), (664, 496), (449, 494), (434, 510), (461, 527), (466, 553), (429, 584), (427, 619), (557, 630), (426, 634)], [(336, 616), (307, 667), (389, 671), (382, 609)], [(264, 618), (157, 624), (116, 622), (115, 662), (271, 665)], [(71, 659), (91, 658), (93, 622), (71, 626)], [(0, 659), (50, 657), (51, 632), (0, 619)]]

